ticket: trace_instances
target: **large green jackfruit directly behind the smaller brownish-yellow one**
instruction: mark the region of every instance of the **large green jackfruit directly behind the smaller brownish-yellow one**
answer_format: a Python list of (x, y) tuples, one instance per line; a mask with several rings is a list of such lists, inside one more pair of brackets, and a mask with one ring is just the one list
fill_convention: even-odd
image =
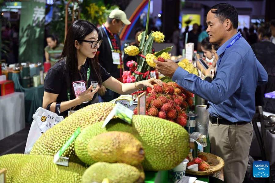
[(124, 131), (133, 134), (143, 145), (144, 170), (170, 170), (189, 154), (189, 135), (180, 125), (152, 116), (134, 115), (132, 124), (120, 119), (111, 120), (106, 127), (103, 122), (86, 127), (75, 140), (75, 152), (80, 160), (91, 165), (87, 145), (92, 138), (106, 131)]

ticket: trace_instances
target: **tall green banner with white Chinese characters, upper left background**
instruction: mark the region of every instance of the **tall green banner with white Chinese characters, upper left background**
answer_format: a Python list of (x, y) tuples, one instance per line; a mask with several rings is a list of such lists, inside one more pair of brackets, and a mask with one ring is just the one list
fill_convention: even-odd
[(45, 6), (46, 0), (22, 0), (18, 57), (20, 63), (43, 61)]

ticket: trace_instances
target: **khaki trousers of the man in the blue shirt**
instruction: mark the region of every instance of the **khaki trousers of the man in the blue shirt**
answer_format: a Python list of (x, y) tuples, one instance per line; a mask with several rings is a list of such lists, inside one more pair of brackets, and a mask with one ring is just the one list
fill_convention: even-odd
[[(239, 125), (212, 124), (209, 122), (211, 153), (224, 162), (226, 183), (242, 183), (248, 165), (249, 148), (253, 137), (252, 122)], [(219, 181), (215, 178), (215, 182)]]

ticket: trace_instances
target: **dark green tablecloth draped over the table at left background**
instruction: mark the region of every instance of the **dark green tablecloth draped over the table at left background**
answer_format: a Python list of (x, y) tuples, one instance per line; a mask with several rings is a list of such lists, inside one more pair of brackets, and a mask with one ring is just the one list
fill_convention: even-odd
[[(33, 70), (33, 73), (36, 73), (36, 71), (37, 70)], [(20, 84), (20, 74), (14, 74), (14, 73), (9, 74), (8, 79), (13, 80), (15, 91), (24, 92), (24, 94), (25, 94), (25, 121), (28, 123), (31, 123), (33, 120), (32, 115), (35, 113), (36, 109), (38, 109), (39, 107), (42, 107), (43, 95), (44, 95), (44, 85), (42, 84), (42, 85), (39, 85), (38, 87), (23, 88)]]

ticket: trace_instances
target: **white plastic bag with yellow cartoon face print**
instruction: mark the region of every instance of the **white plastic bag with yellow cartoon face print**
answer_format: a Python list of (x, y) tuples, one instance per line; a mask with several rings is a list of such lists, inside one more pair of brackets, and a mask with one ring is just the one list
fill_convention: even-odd
[(36, 110), (32, 118), (33, 121), (27, 139), (25, 154), (30, 154), (32, 146), (43, 133), (64, 120), (63, 116), (58, 116), (56, 113), (43, 109), (42, 107)]

